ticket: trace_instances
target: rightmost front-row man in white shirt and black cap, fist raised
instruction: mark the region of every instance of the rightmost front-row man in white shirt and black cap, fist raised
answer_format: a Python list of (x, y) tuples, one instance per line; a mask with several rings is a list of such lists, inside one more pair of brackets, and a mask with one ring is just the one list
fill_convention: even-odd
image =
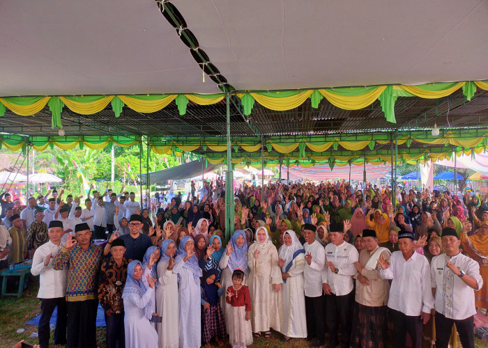
[(463, 348), (475, 347), (473, 335), (475, 290), (480, 290), (483, 278), (480, 265), (459, 251), (459, 237), (454, 228), (442, 230), (445, 253), (431, 263), (432, 290), (436, 308), (436, 347), (447, 348), (452, 324), (456, 324)]

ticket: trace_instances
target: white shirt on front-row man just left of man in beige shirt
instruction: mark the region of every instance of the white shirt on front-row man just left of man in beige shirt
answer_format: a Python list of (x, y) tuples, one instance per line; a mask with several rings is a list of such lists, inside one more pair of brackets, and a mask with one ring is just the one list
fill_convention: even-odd
[(341, 245), (329, 243), (326, 245), (326, 261), (332, 262), (338, 273), (335, 274), (328, 265), (326, 265), (326, 282), (330, 286), (330, 291), (336, 296), (344, 296), (353, 291), (354, 280), (357, 269), (354, 262), (359, 260), (359, 254), (356, 248), (349, 243), (342, 242)]

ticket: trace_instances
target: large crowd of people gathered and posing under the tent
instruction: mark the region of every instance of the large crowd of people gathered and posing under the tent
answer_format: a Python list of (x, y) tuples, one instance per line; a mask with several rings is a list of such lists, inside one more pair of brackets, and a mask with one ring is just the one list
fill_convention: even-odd
[[(91, 188), (93, 189), (93, 187)], [(348, 182), (243, 184), (225, 228), (222, 180), (185, 198), (49, 191), (0, 195), (0, 269), (33, 257), (40, 347), (474, 347), (488, 308), (488, 200), (450, 191), (392, 192)], [(397, 204), (393, 205), (392, 200)], [(225, 237), (229, 237), (227, 240)]]

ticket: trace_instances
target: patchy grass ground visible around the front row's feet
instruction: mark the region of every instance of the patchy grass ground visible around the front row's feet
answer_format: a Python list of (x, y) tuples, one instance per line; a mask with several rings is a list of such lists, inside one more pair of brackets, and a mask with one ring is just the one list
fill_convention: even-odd
[[(31, 278), (32, 280), (32, 278)], [(38, 280), (37, 280), (38, 281)], [(32, 333), (37, 333), (37, 326), (25, 325), (29, 319), (40, 315), (40, 301), (37, 299), (38, 283), (29, 281), (29, 286), (24, 291), (22, 298), (7, 297), (0, 299), (0, 346), (10, 348), (20, 340), (31, 344), (38, 343), (37, 338), (30, 338)], [(25, 329), (23, 333), (17, 333), (18, 329)], [(52, 333), (54, 335), (54, 333)], [(281, 335), (273, 332), (270, 338), (254, 339), (250, 347), (308, 347), (305, 340), (292, 339), (287, 343), (280, 341)], [(52, 342), (52, 337), (51, 337)], [(105, 348), (105, 328), (97, 328), (97, 342), (100, 348)], [(218, 347), (213, 345), (213, 347)], [(230, 347), (227, 342), (224, 347)], [(487, 340), (475, 338), (475, 347), (488, 348)], [(459, 345), (461, 348), (461, 345)]]

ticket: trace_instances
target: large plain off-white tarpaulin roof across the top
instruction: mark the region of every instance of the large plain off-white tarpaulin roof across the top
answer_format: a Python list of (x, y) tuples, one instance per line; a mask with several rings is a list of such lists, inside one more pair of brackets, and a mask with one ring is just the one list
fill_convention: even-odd
[[(239, 90), (488, 79), (480, 0), (176, 0)], [(153, 0), (0, 3), (0, 95), (218, 93)]]

